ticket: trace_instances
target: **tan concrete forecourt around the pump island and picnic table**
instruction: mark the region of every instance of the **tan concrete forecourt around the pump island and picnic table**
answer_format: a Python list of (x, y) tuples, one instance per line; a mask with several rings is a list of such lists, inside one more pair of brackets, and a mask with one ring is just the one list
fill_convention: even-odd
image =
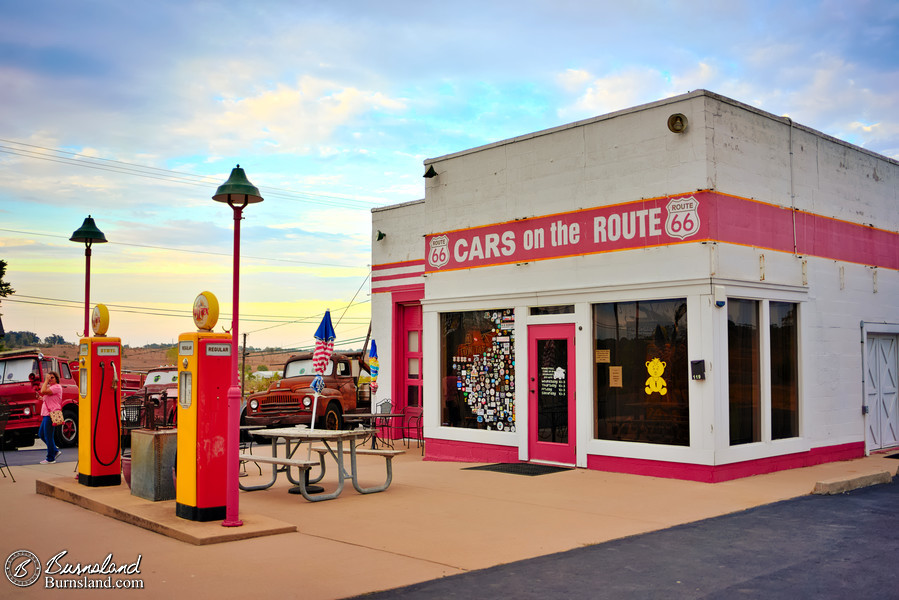
[[(383, 478), (380, 458), (360, 464), (372, 473), (363, 484)], [(362, 496), (348, 486), (316, 504), (288, 494), (282, 477), (269, 490), (241, 493), (240, 512), (295, 525), (296, 533), (207, 546), (35, 493), (38, 479), (74, 477), (73, 462), (13, 467), (17, 483), (0, 478), (0, 559), (27, 549), (45, 561), (67, 550), (70, 562), (112, 553), (124, 564), (140, 554), (144, 590), (132, 593), (145, 597), (345, 598), (741, 511), (809, 494), (818, 482), (894, 475), (899, 461), (879, 454), (717, 484), (583, 469), (524, 477), (469, 466), (425, 462), (413, 449), (394, 460), (386, 492)], [(13, 586), (0, 580), (6, 589)], [(41, 582), (16, 590), (24, 598), (46, 593)]]

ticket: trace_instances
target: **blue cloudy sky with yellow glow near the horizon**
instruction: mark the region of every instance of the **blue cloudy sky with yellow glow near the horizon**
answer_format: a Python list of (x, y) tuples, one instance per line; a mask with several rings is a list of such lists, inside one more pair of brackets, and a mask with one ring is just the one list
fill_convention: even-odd
[[(371, 213), (424, 196), (422, 162), (704, 88), (899, 158), (899, 2), (0, 0), (0, 259), (8, 331), (136, 346), (230, 322), (240, 163), (252, 346), (369, 322)], [(351, 344), (352, 345), (352, 344)], [(361, 342), (356, 345), (361, 346)]]

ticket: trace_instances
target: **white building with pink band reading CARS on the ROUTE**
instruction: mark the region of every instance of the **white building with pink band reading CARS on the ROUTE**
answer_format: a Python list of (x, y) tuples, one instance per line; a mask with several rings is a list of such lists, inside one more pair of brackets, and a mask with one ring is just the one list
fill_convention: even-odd
[(896, 160), (699, 90), (425, 169), (373, 211), (372, 335), (427, 458), (713, 482), (899, 444)]

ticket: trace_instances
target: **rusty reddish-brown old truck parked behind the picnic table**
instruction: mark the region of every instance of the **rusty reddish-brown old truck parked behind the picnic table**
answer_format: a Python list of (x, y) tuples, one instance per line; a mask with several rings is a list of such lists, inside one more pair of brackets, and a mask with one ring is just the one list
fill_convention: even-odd
[[(283, 379), (264, 392), (247, 396), (241, 425), (282, 427), (312, 422), (314, 390), (312, 352), (294, 354), (284, 365)], [(342, 429), (343, 415), (371, 410), (368, 364), (361, 352), (335, 352), (323, 374), (325, 387), (318, 397), (316, 426)]]

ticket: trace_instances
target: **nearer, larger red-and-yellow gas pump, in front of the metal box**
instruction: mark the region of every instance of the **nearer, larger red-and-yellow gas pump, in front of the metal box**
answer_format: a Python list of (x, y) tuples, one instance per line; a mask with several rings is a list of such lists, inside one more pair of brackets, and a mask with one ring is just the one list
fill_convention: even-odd
[(212, 333), (218, 300), (194, 301), (199, 331), (178, 336), (178, 458), (175, 514), (192, 521), (225, 518), (231, 335)]

